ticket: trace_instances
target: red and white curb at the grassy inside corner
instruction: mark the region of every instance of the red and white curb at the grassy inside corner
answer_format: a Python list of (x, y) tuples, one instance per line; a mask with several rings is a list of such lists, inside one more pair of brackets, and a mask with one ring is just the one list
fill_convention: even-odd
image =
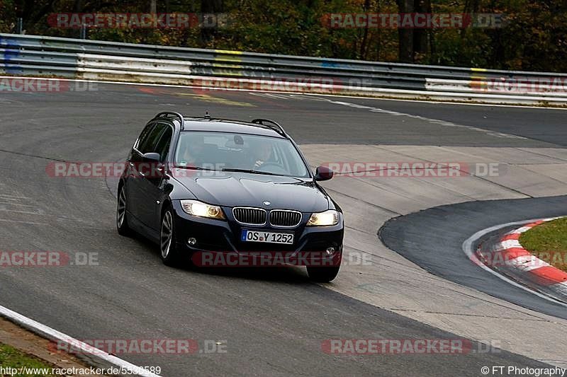
[(541, 219), (516, 228), (497, 242), (484, 243), (476, 249), (476, 257), (484, 265), (505, 274), (541, 294), (567, 302), (567, 272), (539, 259), (520, 244), (525, 231), (553, 219)]

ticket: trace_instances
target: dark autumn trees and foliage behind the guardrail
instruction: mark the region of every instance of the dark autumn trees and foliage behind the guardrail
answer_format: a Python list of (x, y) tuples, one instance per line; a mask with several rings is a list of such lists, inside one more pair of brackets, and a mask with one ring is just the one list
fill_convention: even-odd
[[(27, 34), (53, 13), (225, 13), (220, 28), (89, 28), (89, 39), (492, 69), (567, 71), (567, 3), (554, 0), (0, 0), (0, 32)], [(330, 28), (332, 13), (490, 13), (501, 28)]]

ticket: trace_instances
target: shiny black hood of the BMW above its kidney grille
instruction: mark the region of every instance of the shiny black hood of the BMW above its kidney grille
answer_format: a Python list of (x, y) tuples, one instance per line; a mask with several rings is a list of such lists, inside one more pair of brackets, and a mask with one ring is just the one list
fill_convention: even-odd
[[(207, 176), (197, 173), (176, 178), (196, 199), (224, 207), (262, 207), (319, 212), (329, 208), (329, 199), (312, 180), (276, 175), (223, 173)], [(266, 206), (264, 202), (270, 202)]]

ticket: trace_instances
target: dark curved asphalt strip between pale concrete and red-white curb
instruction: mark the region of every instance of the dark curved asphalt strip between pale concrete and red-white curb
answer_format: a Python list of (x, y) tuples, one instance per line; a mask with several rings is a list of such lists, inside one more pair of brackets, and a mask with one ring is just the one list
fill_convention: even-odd
[(379, 236), (388, 248), (432, 274), (567, 319), (565, 306), (504, 282), (468, 260), (461, 249), (469, 236), (494, 224), (566, 214), (567, 196), (450, 204), (393, 218), (382, 226)]

